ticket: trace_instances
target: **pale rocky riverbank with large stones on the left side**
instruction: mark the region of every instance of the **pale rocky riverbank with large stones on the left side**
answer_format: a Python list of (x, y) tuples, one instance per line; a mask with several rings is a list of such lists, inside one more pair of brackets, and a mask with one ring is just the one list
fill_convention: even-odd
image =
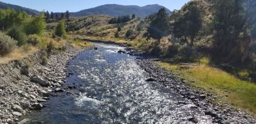
[(51, 55), (49, 62), (42, 65), (42, 52), (36, 52), (22, 60), (0, 65), (0, 123), (23, 123), (22, 114), (41, 110), (53, 92), (68, 76), (68, 61), (85, 49), (69, 46), (65, 53)]

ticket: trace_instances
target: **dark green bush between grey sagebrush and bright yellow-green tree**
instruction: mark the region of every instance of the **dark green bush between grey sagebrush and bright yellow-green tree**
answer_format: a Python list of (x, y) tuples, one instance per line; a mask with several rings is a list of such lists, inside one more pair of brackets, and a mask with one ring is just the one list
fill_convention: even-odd
[(22, 32), (22, 30), (18, 26), (12, 26), (7, 32), (7, 35), (17, 40), (18, 46), (26, 44), (26, 35)]

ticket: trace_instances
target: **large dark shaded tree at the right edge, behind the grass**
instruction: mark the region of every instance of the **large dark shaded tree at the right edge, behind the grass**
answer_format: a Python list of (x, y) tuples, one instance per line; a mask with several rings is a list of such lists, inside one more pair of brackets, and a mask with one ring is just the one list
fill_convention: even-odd
[(241, 67), (250, 59), (250, 31), (255, 24), (256, 1), (212, 1), (214, 40), (211, 60)]

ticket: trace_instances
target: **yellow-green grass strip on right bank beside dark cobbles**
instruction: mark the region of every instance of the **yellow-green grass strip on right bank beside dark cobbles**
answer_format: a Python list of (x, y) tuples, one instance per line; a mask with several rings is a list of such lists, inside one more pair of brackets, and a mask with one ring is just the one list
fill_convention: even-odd
[(157, 65), (167, 71), (179, 74), (186, 80), (194, 80), (192, 86), (206, 90), (213, 90), (220, 100), (226, 103), (233, 103), (238, 108), (256, 113), (256, 85), (240, 80), (220, 69), (208, 67), (206, 65), (190, 67), (189, 69), (179, 69), (182, 65), (156, 62)]

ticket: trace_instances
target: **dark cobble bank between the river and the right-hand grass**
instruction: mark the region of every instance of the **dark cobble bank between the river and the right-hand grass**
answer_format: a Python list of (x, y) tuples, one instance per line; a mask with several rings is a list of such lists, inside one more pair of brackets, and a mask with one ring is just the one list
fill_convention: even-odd
[[(214, 93), (209, 94), (209, 92), (202, 89), (187, 86), (180, 79), (177, 79), (174, 74), (166, 72), (163, 68), (155, 65), (154, 61), (158, 60), (139, 59), (138, 64), (150, 74), (151, 77), (147, 81), (158, 81), (190, 101), (189, 103), (177, 101), (177, 104), (193, 104), (191, 108), (203, 110), (205, 115), (213, 118), (213, 123), (256, 123), (249, 113), (239, 110), (234, 111), (233, 106), (221, 103), (212, 104), (210, 101), (217, 97)], [(196, 115), (190, 117), (189, 121), (197, 123)]]

